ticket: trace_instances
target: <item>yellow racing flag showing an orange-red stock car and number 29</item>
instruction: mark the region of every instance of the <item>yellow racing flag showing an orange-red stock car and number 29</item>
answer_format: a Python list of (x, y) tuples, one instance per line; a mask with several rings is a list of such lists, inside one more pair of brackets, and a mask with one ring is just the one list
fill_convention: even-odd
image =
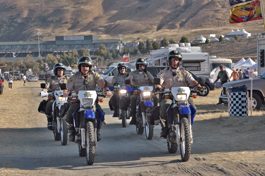
[[(230, 2), (230, 1), (229, 1)], [(236, 5), (231, 8), (229, 22), (231, 24), (260, 20), (262, 18), (261, 4), (259, 0)]]

